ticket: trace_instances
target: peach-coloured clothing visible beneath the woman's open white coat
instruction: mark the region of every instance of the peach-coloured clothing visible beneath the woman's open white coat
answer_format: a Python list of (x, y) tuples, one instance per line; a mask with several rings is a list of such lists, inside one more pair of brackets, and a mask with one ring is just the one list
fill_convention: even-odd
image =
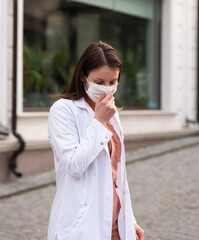
[[(95, 111), (95, 103), (87, 96), (84, 96), (87, 103)], [(106, 128), (113, 133), (112, 138), (108, 142), (108, 149), (111, 157), (112, 177), (113, 177), (113, 222), (112, 222), (112, 236), (111, 240), (120, 240), (118, 232), (118, 215), (121, 208), (120, 200), (116, 192), (116, 180), (117, 180), (117, 164), (120, 161), (121, 155), (121, 143), (120, 139), (114, 130), (113, 126), (108, 122)]]

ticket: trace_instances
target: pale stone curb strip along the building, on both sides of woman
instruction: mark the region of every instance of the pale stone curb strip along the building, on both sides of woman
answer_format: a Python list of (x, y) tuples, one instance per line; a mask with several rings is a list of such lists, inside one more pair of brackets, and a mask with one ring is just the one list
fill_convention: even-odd
[[(199, 145), (199, 137), (188, 137), (166, 141), (161, 144), (148, 146), (134, 151), (128, 151), (126, 152), (126, 165), (139, 161), (146, 161), (153, 157), (158, 157), (197, 145)], [(54, 170), (47, 173), (38, 174), (36, 176), (19, 179), (15, 182), (1, 183), (0, 200), (50, 185), (55, 185)]]

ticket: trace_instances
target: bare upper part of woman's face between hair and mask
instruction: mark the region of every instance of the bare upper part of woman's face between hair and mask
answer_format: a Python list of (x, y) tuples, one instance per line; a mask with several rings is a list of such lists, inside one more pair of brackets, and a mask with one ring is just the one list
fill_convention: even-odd
[(100, 78), (104, 80), (116, 79), (119, 76), (118, 68), (111, 68), (107, 65), (93, 69), (88, 77), (89, 78)]

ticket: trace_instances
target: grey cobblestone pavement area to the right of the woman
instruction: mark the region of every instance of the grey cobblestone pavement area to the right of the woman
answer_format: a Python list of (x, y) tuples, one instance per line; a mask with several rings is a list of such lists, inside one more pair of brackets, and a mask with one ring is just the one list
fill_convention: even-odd
[(199, 240), (199, 145), (127, 168), (146, 240)]

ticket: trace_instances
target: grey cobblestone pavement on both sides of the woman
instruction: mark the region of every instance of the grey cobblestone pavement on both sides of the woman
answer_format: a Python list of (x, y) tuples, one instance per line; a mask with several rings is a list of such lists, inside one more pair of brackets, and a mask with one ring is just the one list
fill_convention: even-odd
[[(199, 145), (149, 155), (127, 165), (145, 240), (199, 240)], [(51, 184), (0, 199), (0, 240), (45, 240), (54, 193)]]

